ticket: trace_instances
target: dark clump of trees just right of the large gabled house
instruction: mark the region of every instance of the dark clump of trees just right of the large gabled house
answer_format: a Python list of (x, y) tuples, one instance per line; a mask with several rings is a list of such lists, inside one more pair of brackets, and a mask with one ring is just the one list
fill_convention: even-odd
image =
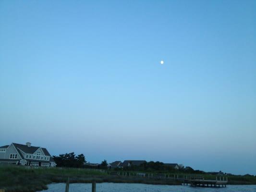
[(84, 154), (76, 156), (74, 152), (53, 156), (53, 159), (58, 167), (82, 168), (86, 162)]

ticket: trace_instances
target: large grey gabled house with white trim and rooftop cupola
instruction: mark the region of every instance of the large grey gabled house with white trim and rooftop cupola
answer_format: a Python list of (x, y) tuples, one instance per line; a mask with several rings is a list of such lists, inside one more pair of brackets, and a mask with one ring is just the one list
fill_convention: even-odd
[(48, 150), (31, 146), (31, 143), (4, 145), (0, 147), (0, 163), (33, 167), (55, 167), (56, 163)]

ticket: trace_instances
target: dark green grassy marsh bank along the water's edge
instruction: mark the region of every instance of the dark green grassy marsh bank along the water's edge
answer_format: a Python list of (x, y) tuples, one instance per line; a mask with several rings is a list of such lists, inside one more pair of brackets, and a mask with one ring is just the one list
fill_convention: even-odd
[[(133, 172), (135, 173), (135, 172)], [(177, 173), (175, 173), (177, 175)], [(133, 174), (131, 174), (133, 175)], [(173, 174), (170, 173), (170, 177)], [(205, 180), (215, 180), (216, 176), (179, 174), (179, 178), (202, 176)], [(71, 183), (118, 182), (118, 183), (145, 183), (180, 185), (181, 181), (171, 179), (155, 179), (148, 177), (125, 177), (108, 175), (102, 170), (85, 168), (27, 168), (23, 166), (0, 166), (0, 189), (6, 192), (36, 192), (47, 189), (47, 184), (52, 182)], [(256, 184), (254, 176), (228, 176), (228, 184)]]

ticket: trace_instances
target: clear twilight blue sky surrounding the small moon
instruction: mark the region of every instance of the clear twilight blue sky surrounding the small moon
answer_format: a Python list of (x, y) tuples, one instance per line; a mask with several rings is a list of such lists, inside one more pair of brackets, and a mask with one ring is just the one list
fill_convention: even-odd
[(256, 1), (1, 0), (0, 144), (28, 141), (256, 174)]

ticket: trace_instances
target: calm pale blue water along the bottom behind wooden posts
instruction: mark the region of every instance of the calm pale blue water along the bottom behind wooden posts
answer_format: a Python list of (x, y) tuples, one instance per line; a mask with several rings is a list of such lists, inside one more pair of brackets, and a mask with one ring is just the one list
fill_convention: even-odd
[[(69, 192), (91, 192), (92, 184), (73, 183)], [(53, 183), (43, 192), (65, 192), (65, 183)], [(202, 188), (129, 183), (97, 183), (96, 192), (256, 192), (256, 185), (228, 185), (226, 188)]]

